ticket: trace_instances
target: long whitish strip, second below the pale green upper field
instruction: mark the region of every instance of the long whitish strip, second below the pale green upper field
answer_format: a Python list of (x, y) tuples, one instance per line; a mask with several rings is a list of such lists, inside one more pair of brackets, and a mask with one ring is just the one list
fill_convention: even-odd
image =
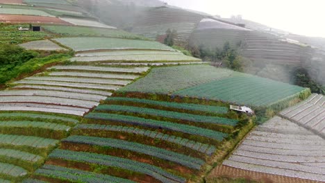
[(152, 55), (113, 55), (113, 56), (93, 56), (93, 57), (75, 57), (72, 58), (73, 62), (104, 62), (104, 61), (147, 61), (147, 62), (189, 62), (201, 61), (201, 59), (193, 58), (187, 55), (165, 55), (165, 54), (152, 54)]

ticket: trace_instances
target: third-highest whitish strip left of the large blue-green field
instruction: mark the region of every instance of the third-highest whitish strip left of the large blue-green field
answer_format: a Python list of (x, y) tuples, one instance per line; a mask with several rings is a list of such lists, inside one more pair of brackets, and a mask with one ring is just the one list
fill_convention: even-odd
[(91, 84), (103, 84), (103, 85), (128, 85), (132, 80), (113, 80), (113, 79), (94, 79), (94, 78), (76, 78), (76, 77), (51, 77), (51, 76), (32, 76), (25, 78), (24, 80), (38, 80), (38, 81), (57, 81), (57, 82), (77, 82), (91, 83)]

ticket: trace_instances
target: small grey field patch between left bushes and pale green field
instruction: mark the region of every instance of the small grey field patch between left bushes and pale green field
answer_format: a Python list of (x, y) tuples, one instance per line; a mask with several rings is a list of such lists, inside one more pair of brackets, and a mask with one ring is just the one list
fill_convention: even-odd
[(65, 50), (65, 51), (67, 51), (67, 49), (65, 49), (61, 46), (58, 46), (58, 44), (55, 44), (49, 40), (26, 42), (24, 44), (19, 44), (19, 46), (22, 46), (24, 49), (28, 49), (28, 50), (45, 50), (45, 51)]

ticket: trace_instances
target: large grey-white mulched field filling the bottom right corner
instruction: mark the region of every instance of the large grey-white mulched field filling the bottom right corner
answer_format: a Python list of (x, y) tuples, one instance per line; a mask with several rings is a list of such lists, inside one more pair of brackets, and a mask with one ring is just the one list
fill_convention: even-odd
[[(268, 174), (324, 182), (324, 150), (324, 139), (276, 116), (253, 130), (223, 166), (246, 170), (241, 171), (243, 177), (257, 172), (266, 173), (273, 181), (278, 177)], [(222, 169), (215, 169), (212, 175), (233, 175), (218, 171)]]

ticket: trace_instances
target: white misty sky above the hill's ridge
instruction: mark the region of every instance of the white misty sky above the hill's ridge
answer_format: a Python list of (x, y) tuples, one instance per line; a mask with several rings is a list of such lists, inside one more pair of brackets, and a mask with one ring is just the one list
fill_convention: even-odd
[(169, 5), (243, 19), (287, 30), (325, 37), (325, 0), (162, 0)]

